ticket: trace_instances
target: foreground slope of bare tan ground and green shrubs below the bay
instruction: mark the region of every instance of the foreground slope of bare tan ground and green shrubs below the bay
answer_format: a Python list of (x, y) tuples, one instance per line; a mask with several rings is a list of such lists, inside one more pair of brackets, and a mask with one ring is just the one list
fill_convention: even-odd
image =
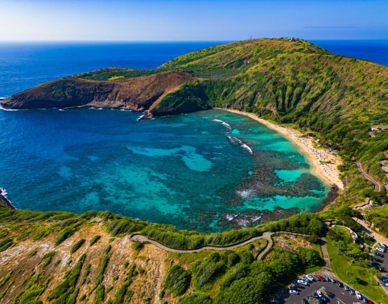
[[(0, 207), (0, 222), (0, 242), (13, 241), (0, 255), (0, 282), (4, 281), (0, 283), (0, 294), (4, 292), (6, 301), (17, 295), (15, 303), (30, 303), (26, 299), (76, 303), (66, 302), (67, 298), (77, 299), (78, 303), (81, 297), (86, 297), (88, 303), (110, 303), (106, 302), (109, 300), (130, 303), (129, 299), (142, 303), (148, 297), (152, 303), (165, 300), (177, 303), (178, 297), (189, 296), (192, 291), (211, 296), (214, 303), (235, 303), (235, 299), (228, 300), (230, 295), (241, 299), (241, 303), (261, 303), (273, 291), (273, 286), (281, 286), (315, 266), (297, 250), (283, 249), (279, 253), (274, 249), (270, 259), (255, 262), (266, 240), (222, 252), (166, 253), (153, 245), (135, 247), (128, 234), (147, 232), (147, 228), (170, 231), (171, 246), (175, 245), (171, 240), (179, 242), (188, 234), (206, 236), (206, 242), (213, 244), (228, 240), (224, 238), (225, 233), (177, 231), (167, 225), (154, 225), (110, 212), (74, 214)], [(261, 227), (267, 228), (317, 232), (322, 224), (316, 215), (305, 214)], [(93, 243), (96, 235), (100, 238)], [(305, 243), (311, 247), (308, 241)], [(75, 246), (78, 250), (73, 250)], [(319, 253), (314, 254), (319, 264)], [(293, 266), (282, 267), (284, 263)], [(167, 268), (175, 264), (183, 270), (178, 268), (176, 276), (163, 284), (161, 290), (161, 283), (171, 273)], [(6, 290), (6, 280), (13, 281), (12, 289)], [(203, 302), (190, 300), (189, 303)]]

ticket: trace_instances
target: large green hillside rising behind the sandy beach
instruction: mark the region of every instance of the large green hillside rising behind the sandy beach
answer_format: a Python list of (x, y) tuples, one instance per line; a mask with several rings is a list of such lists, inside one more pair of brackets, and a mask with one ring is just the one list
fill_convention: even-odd
[(182, 55), (154, 72), (105, 69), (78, 77), (123, 80), (166, 70), (183, 70), (199, 80), (165, 96), (150, 110), (154, 116), (209, 104), (315, 132), (320, 144), (339, 150), (344, 159), (346, 189), (337, 202), (357, 203), (367, 196), (385, 202), (386, 195), (373, 192), (352, 160), (358, 159), (381, 184), (388, 183), (379, 164), (388, 133), (367, 133), (373, 125), (388, 125), (388, 67), (301, 39), (252, 39)]

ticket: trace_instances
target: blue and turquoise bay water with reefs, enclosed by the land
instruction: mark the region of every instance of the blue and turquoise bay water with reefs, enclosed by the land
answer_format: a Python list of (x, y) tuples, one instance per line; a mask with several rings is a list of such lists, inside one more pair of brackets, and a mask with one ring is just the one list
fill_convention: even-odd
[(250, 118), (139, 116), (0, 111), (0, 186), (18, 208), (109, 210), (202, 231), (314, 211), (327, 197), (303, 154)]

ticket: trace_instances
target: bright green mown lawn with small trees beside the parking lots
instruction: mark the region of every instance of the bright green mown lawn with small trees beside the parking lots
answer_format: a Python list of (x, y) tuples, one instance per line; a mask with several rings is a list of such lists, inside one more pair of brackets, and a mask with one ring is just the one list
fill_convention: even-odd
[[(343, 229), (343, 231), (340, 229)], [(336, 232), (339, 231), (349, 233), (344, 228), (336, 227)], [(332, 270), (339, 279), (360, 291), (375, 303), (388, 303), (388, 295), (377, 285), (371, 268), (351, 265), (352, 258), (343, 253), (338, 254), (336, 243), (330, 236), (327, 237), (326, 247), (331, 258), (330, 265)]]

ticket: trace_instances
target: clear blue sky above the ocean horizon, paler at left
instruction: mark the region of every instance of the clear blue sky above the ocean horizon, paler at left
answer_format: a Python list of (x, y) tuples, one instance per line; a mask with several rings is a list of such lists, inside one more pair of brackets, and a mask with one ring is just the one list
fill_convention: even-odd
[(0, 0), (0, 40), (388, 39), (384, 0)]

